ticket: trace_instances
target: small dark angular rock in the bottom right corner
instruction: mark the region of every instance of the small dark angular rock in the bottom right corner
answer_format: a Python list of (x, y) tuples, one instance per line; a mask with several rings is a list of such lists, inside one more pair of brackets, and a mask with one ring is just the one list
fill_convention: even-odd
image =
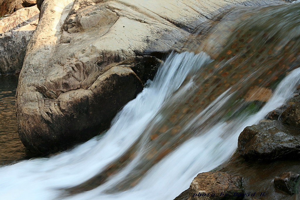
[(279, 178), (274, 179), (275, 188), (293, 195), (300, 189), (300, 175), (293, 172), (285, 172)]

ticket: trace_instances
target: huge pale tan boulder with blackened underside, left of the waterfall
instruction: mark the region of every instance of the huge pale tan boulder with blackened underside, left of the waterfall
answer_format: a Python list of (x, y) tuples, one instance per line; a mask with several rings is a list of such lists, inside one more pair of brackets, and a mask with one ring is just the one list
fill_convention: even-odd
[[(222, 0), (211, 6), (203, 0), (37, 1), (42, 5), (40, 21), (27, 48), (16, 96), (21, 140), (30, 150), (47, 151), (107, 129), (175, 43), (199, 23), (243, 2)], [(269, 2), (278, 1), (251, 5)], [(124, 76), (117, 74), (122, 68), (132, 82), (121, 87)], [(119, 89), (100, 81), (105, 73), (114, 77), (110, 83)], [(128, 95), (119, 96), (116, 91), (121, 88)], [(100, 95), (103, 101), (115, 99), (110, 102), (114, 109), (101, 116), (100, 111), (111, 105), (96, 103)]]

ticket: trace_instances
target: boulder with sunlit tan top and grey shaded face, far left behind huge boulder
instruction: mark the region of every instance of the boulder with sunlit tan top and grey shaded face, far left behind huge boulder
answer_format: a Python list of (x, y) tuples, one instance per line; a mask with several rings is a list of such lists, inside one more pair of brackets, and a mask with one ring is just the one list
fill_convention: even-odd
[(22, 8), (0, 20), (0, 75), (21, 71), (27, 44), (38, 24), (36, 6)]

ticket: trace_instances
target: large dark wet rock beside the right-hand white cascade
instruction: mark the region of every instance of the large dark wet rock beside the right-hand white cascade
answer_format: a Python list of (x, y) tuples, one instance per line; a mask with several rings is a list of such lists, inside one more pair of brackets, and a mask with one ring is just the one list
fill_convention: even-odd
[(300, 142), (274, 122), (247, 126), (238, 137), (238, 152), (246, 159), (299, 158)]

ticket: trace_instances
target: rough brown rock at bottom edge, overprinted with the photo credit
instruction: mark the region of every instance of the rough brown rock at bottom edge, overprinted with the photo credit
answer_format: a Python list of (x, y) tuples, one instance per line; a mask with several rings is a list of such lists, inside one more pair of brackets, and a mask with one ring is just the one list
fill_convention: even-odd
[(188, 200), (243, 199), (242, 177), (225, 172), (198, 174), (190, 184)]

